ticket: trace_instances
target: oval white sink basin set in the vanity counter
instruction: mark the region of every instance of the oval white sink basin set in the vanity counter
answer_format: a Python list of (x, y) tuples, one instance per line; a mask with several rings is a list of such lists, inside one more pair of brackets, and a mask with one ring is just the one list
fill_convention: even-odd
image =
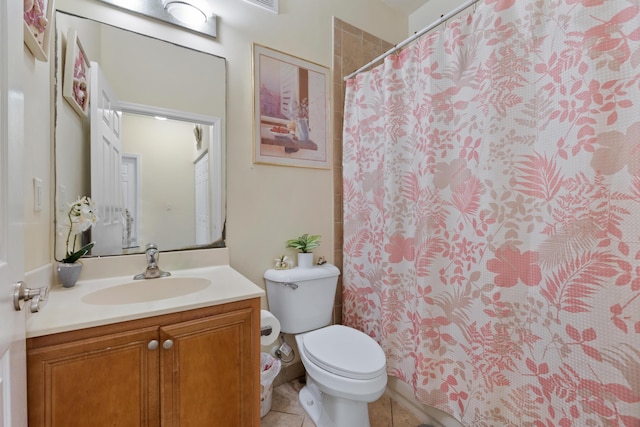
[(82, 302), (94, 305), (136, 304), (189, 295), (209, 285), (209, 279), (200, 277), (134, 280), (91, 292), (82, 297)]

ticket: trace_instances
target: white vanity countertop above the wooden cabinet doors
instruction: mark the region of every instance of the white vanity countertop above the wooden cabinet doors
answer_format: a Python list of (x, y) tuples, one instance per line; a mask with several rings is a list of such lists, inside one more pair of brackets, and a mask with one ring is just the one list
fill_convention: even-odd
[[(263, 289), (229, 265), (173, 270), (171, 274), (169, 278), (136, 281), (131, 275), (87, 279), (78, 281), (72, 288), (53, 285), (42, 310), (27, 320), (27, 338), (259, 298), (265, 294)], [(180, 278), (186, 278), (187, 282), (193, 278), (207, 279), (211, 284), (204, 289), (192, 286), (180, 296), (154, 295), (154, 285), (167, 287), (163, 285), (168, 283), (160, 281), (170, 279), (175, 283)], [(137, 296), (130, 301), (114, 303), (103, 298), (110, 292), (105, 289), (118, 286), (127, 286), (136, 294), (146, 293), (149, 300), (138, 302), (146, 298)], [(143, 293), (136, 292), (138, 286), (144, 290)]]

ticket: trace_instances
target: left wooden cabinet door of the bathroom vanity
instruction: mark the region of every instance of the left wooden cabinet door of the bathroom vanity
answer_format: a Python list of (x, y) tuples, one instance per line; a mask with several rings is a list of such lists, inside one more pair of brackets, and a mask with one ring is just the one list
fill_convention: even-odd
[(157, 339), (156, 326), (30, 350), (29, 426), (159, 426)]

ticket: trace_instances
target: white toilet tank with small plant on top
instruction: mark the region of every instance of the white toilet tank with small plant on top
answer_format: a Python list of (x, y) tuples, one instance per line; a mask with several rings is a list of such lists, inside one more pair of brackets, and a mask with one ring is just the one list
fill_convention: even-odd
[(280, 321), (281, 332), (298, 334), (330, 325), (339, 275), (331, 264), (267, 270), (269, 311)]

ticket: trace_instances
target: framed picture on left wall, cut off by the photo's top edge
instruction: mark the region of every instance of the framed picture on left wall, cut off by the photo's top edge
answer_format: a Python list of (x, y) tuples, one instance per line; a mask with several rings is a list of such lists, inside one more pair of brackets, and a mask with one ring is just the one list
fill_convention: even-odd
[(33, 56), (47, 62), (49, 60), (49, 36), (53, 0), (24, 0), (24, 43)]

